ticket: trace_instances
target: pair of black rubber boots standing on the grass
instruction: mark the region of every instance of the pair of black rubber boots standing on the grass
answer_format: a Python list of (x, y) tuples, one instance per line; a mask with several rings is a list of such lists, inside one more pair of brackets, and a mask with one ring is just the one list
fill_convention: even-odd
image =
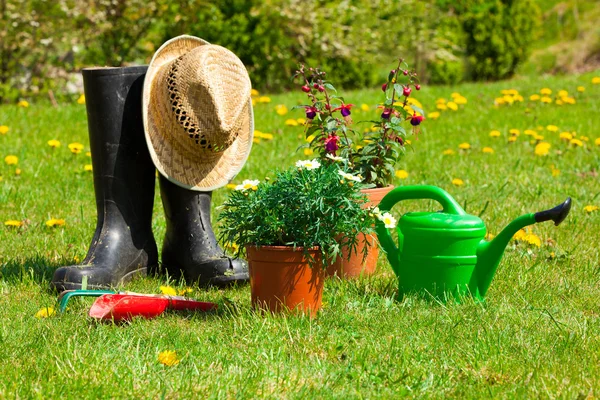
[(58, 291), (115, 288), (147, 273), (201, 286), (248, 280), (246, 263), (226, 257), (215, 238), (212, 193), (187, 190), (162, 176), (167, 231), (158, 267), (152, 234), (156, 169), (141, 112), (146, 69), (83, 70), (98, 219), (81, 265), (55, 271), (51, 285)]

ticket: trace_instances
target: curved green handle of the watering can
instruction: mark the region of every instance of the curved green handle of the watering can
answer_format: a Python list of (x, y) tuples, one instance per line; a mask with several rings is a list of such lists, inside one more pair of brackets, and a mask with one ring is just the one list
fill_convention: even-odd
[[(466, 215), (467, 213), (462, 207), (443, 189), (437, 186), (415, 185), (415, 186), (400, 186), (392, 189), (379, 203), (379, 210), (384, 213), (392, 209), (392, 207), (402, 200), (421, 200), (431, 199), (442, 205), (444, 212), (447, 214)], [(383, 222), (377, 221), (377, 236), (381, 247), (388, 253), (388, 259), (392, 264), (392, 268), (398, 268), (398, 247), (394, 243), (389, 230)]]

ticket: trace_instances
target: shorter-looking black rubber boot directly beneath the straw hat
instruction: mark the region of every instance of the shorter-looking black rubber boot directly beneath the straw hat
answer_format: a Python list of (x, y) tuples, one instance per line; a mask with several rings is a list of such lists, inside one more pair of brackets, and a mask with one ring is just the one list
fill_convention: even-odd
[(159, 177), (167, 232), (163, 243), (163, 272), (189, 284), (226, 286), (247, 282), (248, 264), (225, 255), (210, 222), (212, 192), (182, 188)]

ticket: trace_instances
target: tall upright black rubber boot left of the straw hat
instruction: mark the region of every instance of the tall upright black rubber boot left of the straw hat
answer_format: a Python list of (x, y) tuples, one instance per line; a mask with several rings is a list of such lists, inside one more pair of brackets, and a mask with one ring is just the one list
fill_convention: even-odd
[[(158, 263), (152, 235), (155, 168), (144, 137), (147, 67), (84, 69), (98, 220), (81, 265), (56, 270), (59, 290), (120, 286)], [(87, 278), (86, 278), (87, 277)]]

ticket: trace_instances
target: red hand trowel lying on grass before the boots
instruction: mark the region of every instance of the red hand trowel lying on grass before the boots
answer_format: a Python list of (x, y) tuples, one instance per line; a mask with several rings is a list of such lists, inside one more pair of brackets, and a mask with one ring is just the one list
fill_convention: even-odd
[(181, 296), (116, 293), (100, 296), (90, 308), (89, 316), (102, 320), (128, 321), (133, 317), (154, 318), (166, 309), (210, 311), (214, 303), (190, 300)]

